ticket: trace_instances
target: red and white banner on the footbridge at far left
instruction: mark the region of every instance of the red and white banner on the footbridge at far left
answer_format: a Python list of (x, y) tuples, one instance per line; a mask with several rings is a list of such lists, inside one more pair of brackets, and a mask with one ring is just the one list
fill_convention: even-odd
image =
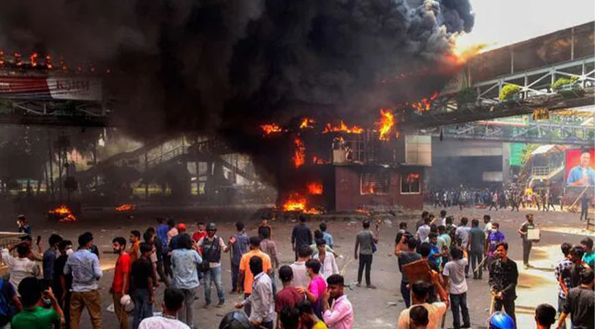
[(0, 77), (0, 98), (101, 101), (96, 77)]

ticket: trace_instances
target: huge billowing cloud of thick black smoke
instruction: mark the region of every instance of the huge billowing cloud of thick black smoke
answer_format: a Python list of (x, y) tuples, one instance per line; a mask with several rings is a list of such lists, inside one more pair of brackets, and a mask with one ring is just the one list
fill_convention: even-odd
[[(131, 134), (203, 131), (242, 151), (259, 123), (305, 114), (367, 119), (438, 90), (468, 0), (4, 1), (0, 49), (110, 68)], [(435, 70), (434, 70), (435, 69)], [(388, 83), (387, 83), (388, 81)]]

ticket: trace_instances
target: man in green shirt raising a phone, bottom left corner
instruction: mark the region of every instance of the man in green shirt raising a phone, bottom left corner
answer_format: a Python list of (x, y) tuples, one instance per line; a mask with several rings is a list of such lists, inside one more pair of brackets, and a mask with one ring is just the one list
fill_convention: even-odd
[[(23, 310), (12, 317), (11, 328), (53, 328), (53, 326), (62, 326), (65, 323), (64, 313), (58, 305), (58, 300), (55, 299), (51, 288), (48, 287), (46, 291), (42, 291), (40, 280), (24, 278), (18, 284), (18, 293), (21, 295)], [(51, 300), (52, 308), (43, 307), (44, 299)]]

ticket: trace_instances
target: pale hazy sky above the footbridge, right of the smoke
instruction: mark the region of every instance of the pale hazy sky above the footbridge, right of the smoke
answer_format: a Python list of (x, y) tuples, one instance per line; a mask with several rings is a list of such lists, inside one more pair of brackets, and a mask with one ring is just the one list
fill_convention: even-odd
[(470, 0), (475, 26), (459, 45), (503, 47), (595, 19), (594, 0)]

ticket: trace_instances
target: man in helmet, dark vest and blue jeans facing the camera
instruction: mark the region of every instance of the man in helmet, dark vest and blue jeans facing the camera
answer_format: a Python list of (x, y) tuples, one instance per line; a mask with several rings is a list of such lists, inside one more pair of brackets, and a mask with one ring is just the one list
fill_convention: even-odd
[(223, 291), (223, 282), (221, 282), (221, 251), (229, 252), (229, 247), (225, 245), (223, 239), (215, 235), (217, 226), (215, 223), (207, 225), (207, 236), (199, 240), (199, 248), (203, 252), (203, 262), (209, 263), (209, 269), (205, 271), (205, 308), (211, 304), (211, 284), (214, 281), (217, 288), (219, 304), (217, 307), (225, 304), (225, 291)]

